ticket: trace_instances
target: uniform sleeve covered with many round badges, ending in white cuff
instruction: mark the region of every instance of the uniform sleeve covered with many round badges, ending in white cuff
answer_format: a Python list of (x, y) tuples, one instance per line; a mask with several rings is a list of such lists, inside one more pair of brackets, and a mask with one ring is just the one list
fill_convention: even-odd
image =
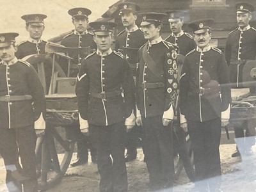
[(177, 52), (169, 49), (164, 61), (164, 75), (166, 83), (166, 97), (163, 118), (173, 119), (177, 95), (179, 90)]

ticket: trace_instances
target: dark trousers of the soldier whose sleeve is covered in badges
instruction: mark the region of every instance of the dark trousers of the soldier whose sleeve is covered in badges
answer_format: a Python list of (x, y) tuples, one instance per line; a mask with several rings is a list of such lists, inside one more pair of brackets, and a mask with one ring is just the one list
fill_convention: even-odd
[(142, 118), (145, 137), (144, 153), (149, 173), (150, 190), (170, 188), (174, 180), (172, 125), (163, 126), (162, 116)]

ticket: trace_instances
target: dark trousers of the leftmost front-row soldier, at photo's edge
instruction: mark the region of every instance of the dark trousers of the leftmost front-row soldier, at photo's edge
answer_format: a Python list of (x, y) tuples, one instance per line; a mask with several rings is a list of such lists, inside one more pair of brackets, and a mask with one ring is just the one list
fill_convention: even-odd
[[(20, 184), (13, 180), (12, 171), (17, 166), (17, 143), (22, 163), (21, 173), (29, 180), (23, 182), (24, 192), (35, 192), (38, 189), (36, 179), (35, 144), (36, 135), (33, 126), (17, 129), (1, 129), (0, 153), (6, 166), (6, 185), (9, 191), (21, 191)], [(17, 184), (17, 185), (15, 185)]]

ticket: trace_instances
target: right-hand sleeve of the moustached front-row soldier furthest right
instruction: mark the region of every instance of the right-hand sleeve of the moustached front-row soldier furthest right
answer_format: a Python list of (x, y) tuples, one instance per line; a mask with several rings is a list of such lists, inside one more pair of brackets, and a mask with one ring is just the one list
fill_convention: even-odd
[(223, 53), (221, 53), (218, 64), (218, 76), (221, 86), (221, 111), (226, 111), (230, 107), (231, 90), (228, 67)]

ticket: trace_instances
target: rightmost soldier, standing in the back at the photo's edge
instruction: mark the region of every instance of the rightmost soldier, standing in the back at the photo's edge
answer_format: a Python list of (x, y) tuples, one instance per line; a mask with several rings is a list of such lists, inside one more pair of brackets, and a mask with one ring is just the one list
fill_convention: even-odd
[[(248, 3), (237, 3), (238, 28), (230, 32), (225, 47), (225, 57), (230, 70), (230, 81), (232, 88), (244, 88), (242, 84), (243, 67), (246, 61), (255, 60), (256, 57), (256, 29), (249, 24), (252, 19), (254, 7)], [(248, 74), (249, 75), (249, 74)], [(250, 87), (250, 92), (255, 93), (255, 86)], [(240, 152), (250, 154), (252, 145), (255, 144), (255, 122), (250, 124), (244, 120), (240, 125), (234, 125), (237, 148), (232, 157), (240, 156)], [(246, 137), (244, 138), (244, 130)], [(244, 139), (242, 139), (244, 138)]]

